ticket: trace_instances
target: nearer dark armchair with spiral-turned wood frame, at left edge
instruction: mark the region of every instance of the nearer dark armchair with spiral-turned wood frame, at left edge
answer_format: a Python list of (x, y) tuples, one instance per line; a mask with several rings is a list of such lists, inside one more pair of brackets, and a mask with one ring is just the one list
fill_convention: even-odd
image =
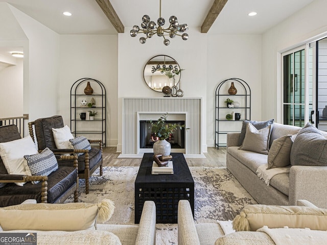
[[(0, 127), (0, 143), (20, 139), (15, 125)], [(75, 167), (61, 167), (49, 176), (9, 175), (0, 157), (0, 183), (7, 183), (0, 188), (0, 207), (18, 205), (27, 199), (35, 199), (38, 203), (63, 203), (74, 193), (74, 201), (78, 202), (77, 156), (62, 156), (61, 160), (75, 159)], [(31, 181), (40, 181), (32, 184)], [(27, 182), (18, 186), (14, 182)]]

